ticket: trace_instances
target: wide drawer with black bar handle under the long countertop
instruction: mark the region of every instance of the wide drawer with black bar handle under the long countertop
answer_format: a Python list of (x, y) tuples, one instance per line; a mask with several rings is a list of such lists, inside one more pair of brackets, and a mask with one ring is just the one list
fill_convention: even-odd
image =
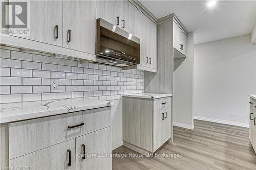
[[(81, 123), (84, 125), (72, 128)], [(9, 159), (109, 126), (111, 126), (111, 107), (11, 123), (9, 124)]]

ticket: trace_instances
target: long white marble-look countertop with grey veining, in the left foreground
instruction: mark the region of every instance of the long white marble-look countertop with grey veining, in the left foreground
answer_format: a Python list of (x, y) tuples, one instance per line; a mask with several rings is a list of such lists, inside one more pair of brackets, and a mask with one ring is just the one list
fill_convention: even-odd
[(112, 106), (113, 102), (88, 98), (1, 104), (0, 123)]

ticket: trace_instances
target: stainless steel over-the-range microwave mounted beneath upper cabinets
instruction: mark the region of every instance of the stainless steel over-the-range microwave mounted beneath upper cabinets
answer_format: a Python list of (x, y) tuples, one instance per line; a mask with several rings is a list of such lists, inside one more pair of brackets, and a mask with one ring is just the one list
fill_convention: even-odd
[(126, 67), (140, 63), (140, 39), (101, 18), (96, 20), (97, 63)]

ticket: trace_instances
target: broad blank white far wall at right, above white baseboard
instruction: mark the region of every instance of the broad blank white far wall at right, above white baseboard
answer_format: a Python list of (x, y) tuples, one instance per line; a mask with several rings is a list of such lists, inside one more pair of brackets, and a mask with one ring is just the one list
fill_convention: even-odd
[(248, 127), (256, 93), (256, 45), (243, 35), (194, 46), (194, 116)]

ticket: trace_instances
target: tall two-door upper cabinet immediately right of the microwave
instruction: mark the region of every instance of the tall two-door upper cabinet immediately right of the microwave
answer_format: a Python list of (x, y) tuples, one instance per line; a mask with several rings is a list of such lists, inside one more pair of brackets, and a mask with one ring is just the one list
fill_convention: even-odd
[(140, 65), (144, 70), (156, 72), (157, 26), (139, 10), (137, 11), (137, 23), (137, 37), (140, 38)]

